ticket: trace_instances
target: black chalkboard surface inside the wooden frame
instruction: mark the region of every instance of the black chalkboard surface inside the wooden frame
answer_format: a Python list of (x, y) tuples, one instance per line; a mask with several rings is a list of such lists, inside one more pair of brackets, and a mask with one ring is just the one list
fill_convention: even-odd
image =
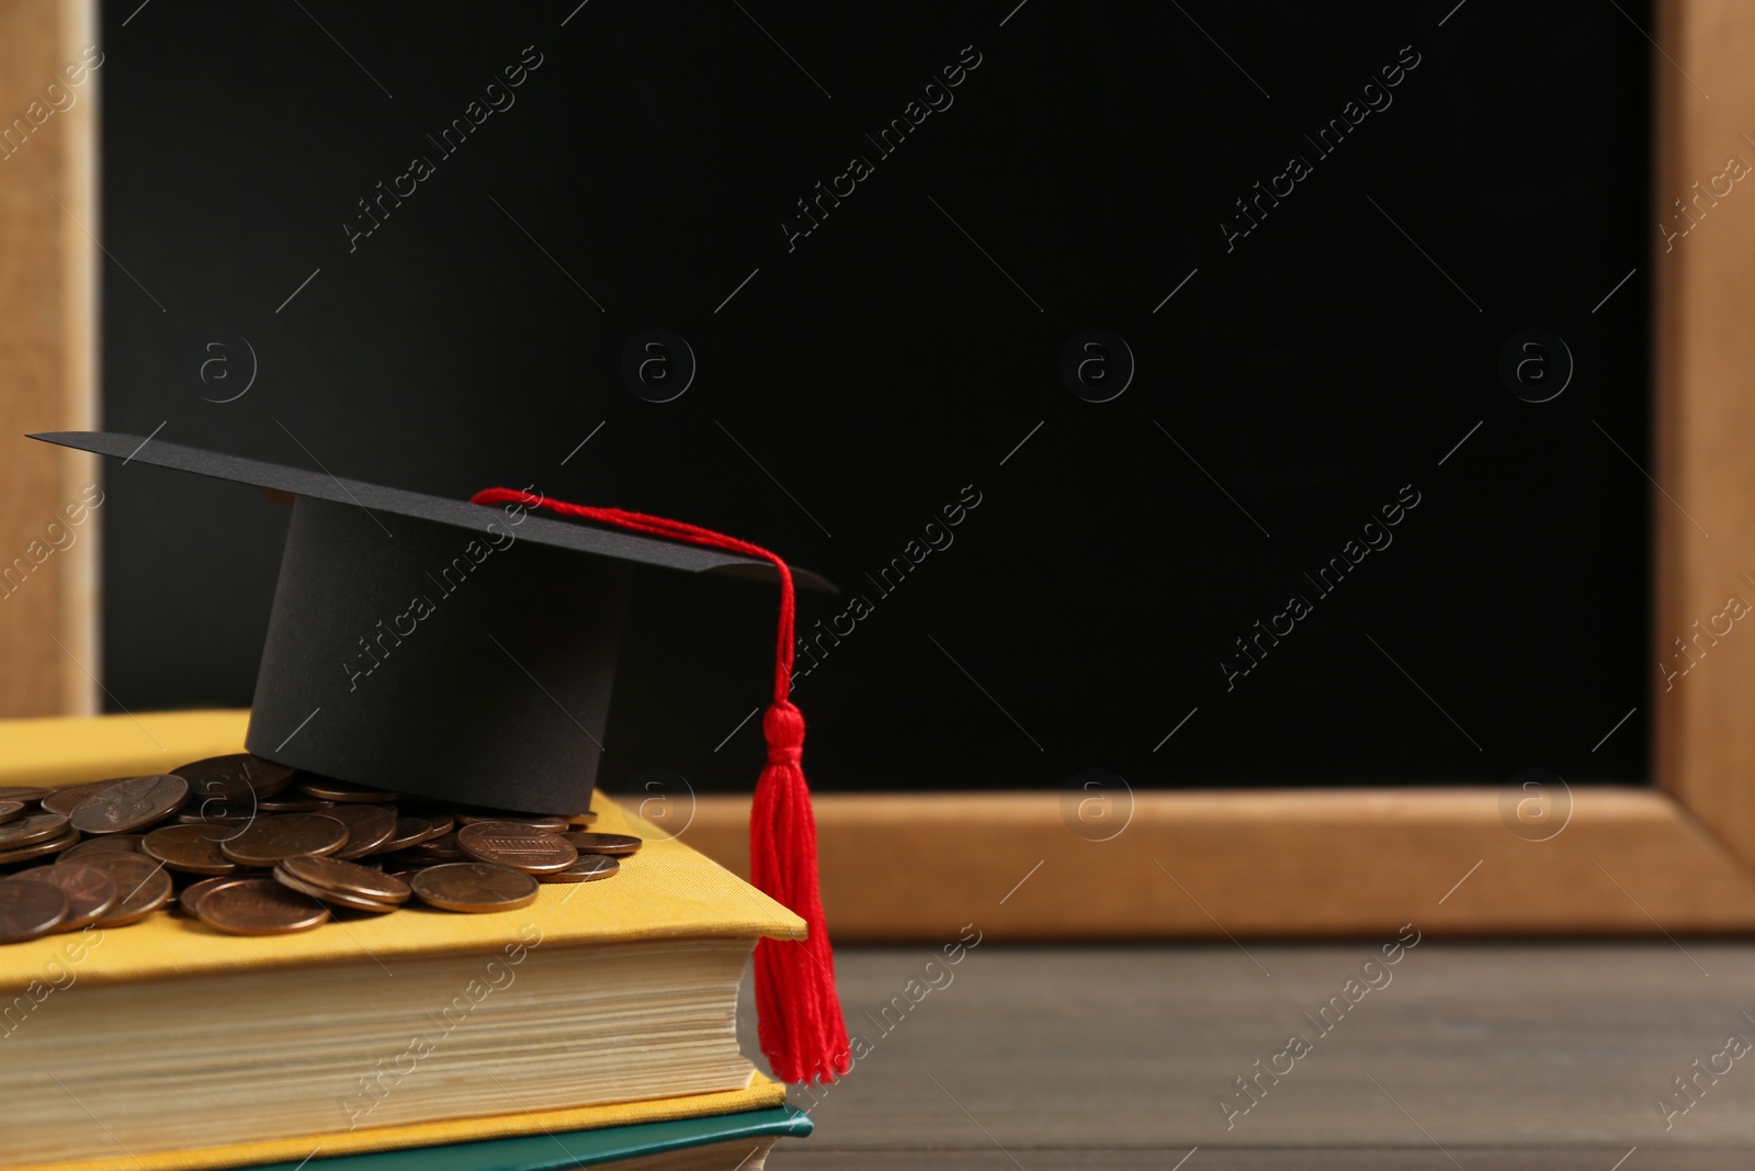
[[(820, 790), (1643, 783), (1648, 21), (105, 4), (104, 423), (783, 550)], [(247, 704), (286, 513), (107, 478), (112, 702)], [(642, 579), (605, 781), (772, 606)]]

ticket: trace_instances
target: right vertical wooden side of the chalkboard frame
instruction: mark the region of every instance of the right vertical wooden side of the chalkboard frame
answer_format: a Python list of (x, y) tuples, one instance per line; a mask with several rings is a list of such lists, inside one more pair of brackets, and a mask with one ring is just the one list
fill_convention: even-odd
[(1660, 0), (1658, 37), (1674, 60), (1653, 58), (1653, 764), (1755, 866), (1755, 637), (1723, 627), (1729, 599), (1755, 604), (1755, 200), (1711, 191), (1730, 158), (1755, 167), (1755, 121), (1739, 121), (1755, 9)]

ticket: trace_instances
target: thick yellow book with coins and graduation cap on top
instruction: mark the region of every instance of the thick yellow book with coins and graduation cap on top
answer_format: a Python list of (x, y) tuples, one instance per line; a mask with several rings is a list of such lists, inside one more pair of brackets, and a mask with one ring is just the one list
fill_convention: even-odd
[[(240, 734), (237, 713), (0, 722), (0, 783), (170, 767)], [(267, 938), (156, 913), (0, 946), (0, 1167), (223, 1167), (779, 1104), (737, 1050), (737, 985), (758, 938), (804, 922), (593, 809), (646, 844), (519, 911)]]

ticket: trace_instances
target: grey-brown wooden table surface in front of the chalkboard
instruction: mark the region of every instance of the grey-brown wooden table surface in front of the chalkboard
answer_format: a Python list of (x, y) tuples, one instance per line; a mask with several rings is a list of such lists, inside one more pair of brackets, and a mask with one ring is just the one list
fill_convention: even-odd
[[(867, 1045), (795, 1092), (816, 1134), (770, 1166), (1755, 1167), (1755, 945), (1422, 941), (1364, 967), (1381, 943), (844, 948)], [(744, 1008), (755, 1052), (748, 981)], [(1292, 1034), (1309, 1052), (1276, 1059)], [(1227, 1113), (1258, 1059), (1290, 1071)]]

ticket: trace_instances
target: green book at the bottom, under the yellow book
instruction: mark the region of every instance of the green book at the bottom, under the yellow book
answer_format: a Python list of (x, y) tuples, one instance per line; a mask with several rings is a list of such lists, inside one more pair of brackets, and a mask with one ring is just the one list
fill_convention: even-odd
[(792, 1106), (741, 1115), (646, 1122), (600, 1131), (412, 1146), (365, 1155), (258, 1164), (251, 1171), (760, 1171), (776, 1141), (811, 1132), (811, 1115)]

